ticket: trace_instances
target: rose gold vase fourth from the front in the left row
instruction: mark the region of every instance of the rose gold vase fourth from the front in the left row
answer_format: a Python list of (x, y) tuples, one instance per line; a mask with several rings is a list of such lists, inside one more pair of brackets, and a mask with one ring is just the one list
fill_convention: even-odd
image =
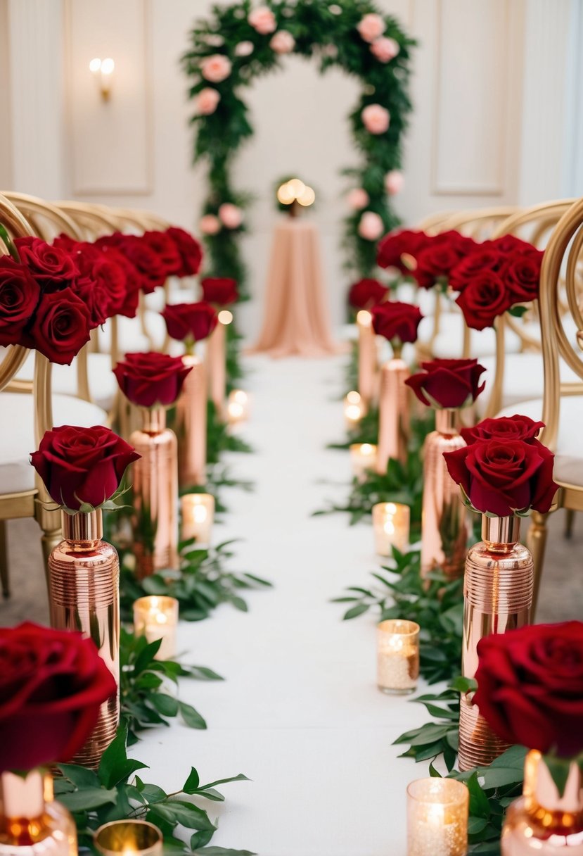
[(182, 395), (176, 404), (178, 437), (178, 478), (180, 487), (206, 484), (207, 468), (207, 381), (203, 363), (196, 354), (185, 354)]

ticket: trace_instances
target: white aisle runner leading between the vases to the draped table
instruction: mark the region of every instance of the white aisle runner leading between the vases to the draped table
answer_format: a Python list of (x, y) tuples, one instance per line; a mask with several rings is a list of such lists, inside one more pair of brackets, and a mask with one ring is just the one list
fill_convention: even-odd
[(226, 492), (215, 543), (244, 538), (233, 569), (268, 577), (274, 589), (244, 595), (248, 614), (225, 605), (207, 621), (180, 623), (185, 662), (227, 680), (181, 683), (207, 731), (173, 723), (136, 749), (150, 764), (144, 781), (168, 791), (191, 765), (203, 782), (253, 780), (221, 787), (223, 805), (204, 804), (220, 821), (211, 846), (261, 856), (406, 853), (405, 788), (427, 764), (397, 759), (403, 750), (392, 741), (428, 717), (375, 687), (374, 619), (342, 622), (344, 604), (329, 603), (344, 586), (368, 585), (378, 568), (372, 530), (349, 527), (345, 515), (309, 516), (347, 494), (348, 455), (324, 448), (344, 436), (344, 361), (247, 361), (252, 412), (242, 435), (256, 454), (232, 463), (256, 487)]

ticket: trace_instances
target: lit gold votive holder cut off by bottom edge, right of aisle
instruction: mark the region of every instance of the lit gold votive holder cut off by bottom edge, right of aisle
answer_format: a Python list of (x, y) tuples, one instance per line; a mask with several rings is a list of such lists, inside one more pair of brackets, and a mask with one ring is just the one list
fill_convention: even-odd
[(469, 791), (455, 779), (416, 779), (407, 788), (407, 856), (465, 856)]

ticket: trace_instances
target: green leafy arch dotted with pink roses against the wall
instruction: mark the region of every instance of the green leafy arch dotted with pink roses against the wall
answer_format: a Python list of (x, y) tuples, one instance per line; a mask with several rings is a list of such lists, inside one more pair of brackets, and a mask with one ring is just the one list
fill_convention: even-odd
[[(374, 215), (368, 218), (371, 226), (380, 228), (382, 221), (383, 232), (398, 223), (386, 176), (397, 177), (394, 171), (401, 166), (401, 140), (411, 110), (409, 61), (414, 40), (368, 0), (266, 0), (261, 6), (238, 0), (215, 6), (208, 20), (197, 21), (190, 38), (183, 62), (191, 79), (190, 97), (197, 105), (191, 118), (194, 161), (209, 165), (203, 226), (210, 272), (233, 276), (243, 286), (238, 238), (245, 225), (244, 218), (240, 223), (238, 219), (250, 196), (235, 190), (231, 173), (233, 158), (253, 135), (253, 126), (241, 92), (260, 75), (281, 68), (282, 54), (294, 53), (314, 57), (321, 73), (342, 68), (362, 83), (361, 96), (349, 115), (361, 163), (343, 174), (353, 188), (366, 193), (360, 194), (360, 201), (367, 197), (368, 201), (344, 219), (344, 266), (351, 276), (370, 276), (376, 240), (362, 237), (359, 228), (363, 229), (365, 212)], [(377, 120), (374, 132), (365, 127), (362, 116), (372, 105)], [(384, 113), (376, 107), (388, 111), (386, 130), (378, 130)], [(225, 204), (227, 209), (221, 209)]]

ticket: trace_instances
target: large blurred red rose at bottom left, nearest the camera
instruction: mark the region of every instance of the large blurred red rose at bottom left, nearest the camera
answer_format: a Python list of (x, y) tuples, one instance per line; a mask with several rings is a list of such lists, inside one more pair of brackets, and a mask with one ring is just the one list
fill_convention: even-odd
[(116, 689), (80, 633), (28, 621), (0, 627), (0, 772), (70, 760)]

